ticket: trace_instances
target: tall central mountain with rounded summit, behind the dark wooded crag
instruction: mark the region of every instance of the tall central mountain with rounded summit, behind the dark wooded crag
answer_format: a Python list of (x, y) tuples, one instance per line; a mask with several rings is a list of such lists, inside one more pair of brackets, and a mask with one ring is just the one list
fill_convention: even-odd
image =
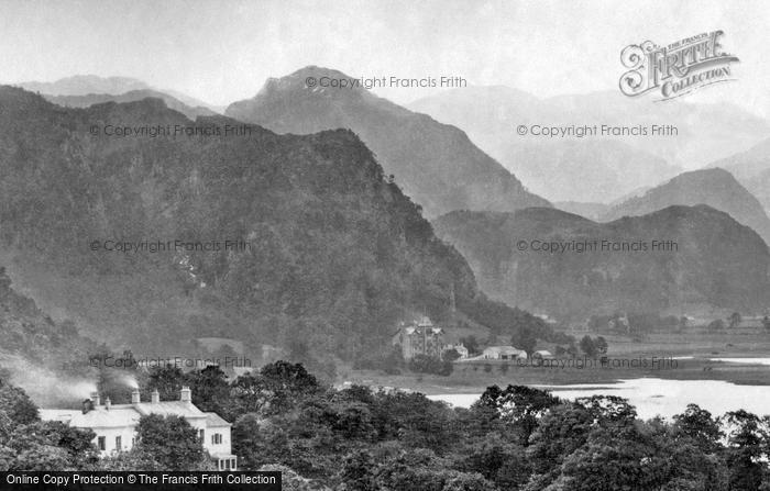
[(514, 211), (550, 205), (528, 192), (461, 130), (360, 87), (306, 85), (308, 78), (324, 77), (351, 78), (337, 70), (307, 67), (267, 80), (253, 99), (232, 103), (226, 114), (277, 133), (351, 129), (428, 216), (459, 209)]

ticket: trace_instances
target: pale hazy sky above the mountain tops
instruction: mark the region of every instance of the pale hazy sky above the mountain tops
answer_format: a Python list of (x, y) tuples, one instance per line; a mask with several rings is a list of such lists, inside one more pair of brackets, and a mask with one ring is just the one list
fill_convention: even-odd
[[(736, 82), (697, 99), (770, 116), (767, 1), (0, 0), (0, 81), (135, 77), (213, 104), (307, 65), (351, 76), (457, 75), (547, 97), (617, 90), (619, 53), (723, 30)], [(431, 89), (375, 90), (396, 102)]]

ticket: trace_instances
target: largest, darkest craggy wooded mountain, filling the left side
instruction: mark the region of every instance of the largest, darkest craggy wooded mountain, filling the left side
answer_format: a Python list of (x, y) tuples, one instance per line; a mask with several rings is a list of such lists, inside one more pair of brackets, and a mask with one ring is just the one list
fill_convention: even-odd
[[(129, 136), (90, 135), (108, 124)], [(176, 125), (194, 134), (147, 130)], [(486, 300), (351, 131), (228, 127), (243, 124), (193, 122), (160, 99), (62, 108), (0, 86), (9, 276), (89, 337), (148, 356), (226, 336), (351, 359), (416, 313), (541, 325)]]

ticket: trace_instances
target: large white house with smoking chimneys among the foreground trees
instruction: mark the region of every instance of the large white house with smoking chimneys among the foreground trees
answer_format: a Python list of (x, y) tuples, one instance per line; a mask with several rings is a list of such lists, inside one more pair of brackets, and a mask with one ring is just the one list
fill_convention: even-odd
[(107, 398), (102, 404), (98, 394), (84, 402), (82, 410), (40, 410), (44, 421), (61, 421), (78, 428), (90, 428), (96, 433), (94, 444), (102, 456), (130, 450), (136, 442), (136, 425), (142, 416), (183, 416), (198, 432), (204, 448), (217, 462), (220, 470), (235, 470), (238, 458), (232, 455), (231, 424), (217, 413), (204, 412), (193, 404), (193, 393), (183, 387), (178, 401), (161, 401), (157, 390), (150, 402), (142, 402), (139, 390), (131, 394), (131, 404), (111, 404)]

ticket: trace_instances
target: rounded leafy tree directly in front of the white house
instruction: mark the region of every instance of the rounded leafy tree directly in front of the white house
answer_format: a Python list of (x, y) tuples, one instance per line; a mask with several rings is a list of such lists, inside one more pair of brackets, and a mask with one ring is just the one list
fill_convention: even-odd
[(164, 470), (199, 470), (205, 467), (202, 442), (183, 416), (142, 416), (136, 435), (139, 450), (156, 460)]

